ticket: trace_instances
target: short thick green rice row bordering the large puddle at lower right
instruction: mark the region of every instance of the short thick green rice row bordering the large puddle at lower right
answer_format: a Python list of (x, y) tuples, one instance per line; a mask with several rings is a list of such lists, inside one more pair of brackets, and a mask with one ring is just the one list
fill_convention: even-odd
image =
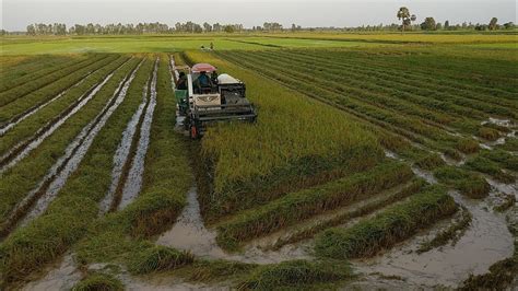
[(316, 237), (315, 251), (318, 256), (329, 258), (373, 256), (456, 210), (457, 205), (446, 190), (432, 186), (374, 218), (363, 219), (346, 229), (326, 230)]

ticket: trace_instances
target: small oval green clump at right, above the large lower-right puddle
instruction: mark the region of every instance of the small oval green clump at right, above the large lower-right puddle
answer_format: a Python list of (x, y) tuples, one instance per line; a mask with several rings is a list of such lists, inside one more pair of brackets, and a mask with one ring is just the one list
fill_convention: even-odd
[(470, 198), (484, 198), (491, 190), (490, 184), (483, 177), (463, 168), (442, 166), (434, 171), (434, 176)]

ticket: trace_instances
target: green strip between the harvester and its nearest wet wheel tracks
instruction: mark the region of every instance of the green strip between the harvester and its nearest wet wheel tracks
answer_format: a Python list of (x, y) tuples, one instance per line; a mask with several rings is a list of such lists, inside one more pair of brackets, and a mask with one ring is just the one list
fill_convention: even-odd
[[(122, 259), (130, 264), (133, 271), (146, 272), (150, 266), (145, 261), (150, 256), (174, 253), (162, 252), (163, 248), (154, 248), (153, 243), (143, 240), (170, 228), (186, 205), (186, 194), (192, 185), (185, 155), (186, 144), (173, 127), (176, 104), (167, 68), (167, 58), (161, 56), (156, 112), (145, 158), (142, 191), (127, 208), (107, 214), (91, 228), (91, 235), (75, 248), (82, 263)], [(142, 254), (137, 254), (140, 252)], [(160, 259), (153, 259), (156, 260)], [(153, 268), (160, 266), (155, 264)]]

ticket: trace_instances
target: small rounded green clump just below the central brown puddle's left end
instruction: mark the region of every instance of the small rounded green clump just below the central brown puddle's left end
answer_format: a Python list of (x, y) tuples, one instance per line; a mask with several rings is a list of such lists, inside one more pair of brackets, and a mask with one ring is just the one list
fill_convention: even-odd
[(154, 246), (134, 254), (130, 261), (129, 270), (132, 273), (141, 275), (190, 265), (195, 261), (195, 257), (187, 252), (178, 252), (165, 246)]

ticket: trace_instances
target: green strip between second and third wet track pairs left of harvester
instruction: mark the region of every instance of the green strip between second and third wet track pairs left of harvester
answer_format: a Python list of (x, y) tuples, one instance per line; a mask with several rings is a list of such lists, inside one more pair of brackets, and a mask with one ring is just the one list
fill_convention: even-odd
[[(3, 194), (0, 203), (0, 223), (4, 224), (5, 219), (14, 206), (32, 190), (38, 187), (38, 183), (47, 181), (54, 176), (54, 165), (57, 164), (57, 156), (67, 156), (67, 149), (81, 133), (85, 125), (97, 116), (99, 110), (107, 104), (109, 97), (118, 86), (120, 80), (129, 72), (127, 66), (117, 71), (116, 78), (106, 83), (101, 91), (95, 94), (81, 110), (68, 119), (56, 132), (50, 135), (26, 159), (2, 174), (0, 181), (0, 191)], [(118, 79), (118, 80), (117, 80)], [(59, 163), (63, 161), (58, 160)], [(47, 178), (46, 178), (47, 177)], [(4, 226), (4, 225), (3, 225)]]

